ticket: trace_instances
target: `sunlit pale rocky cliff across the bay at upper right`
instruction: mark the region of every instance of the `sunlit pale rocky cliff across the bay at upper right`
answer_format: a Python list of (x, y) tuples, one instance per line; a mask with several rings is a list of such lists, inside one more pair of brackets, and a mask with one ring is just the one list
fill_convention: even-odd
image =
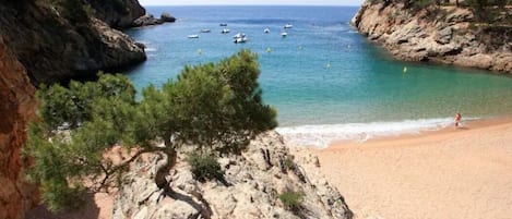
[(401, 3), (366, 1), (352, 24), (398, 59), (512, 73), (512, 28), (473, 21), (467, 9), (429, 7), (413, 13)]

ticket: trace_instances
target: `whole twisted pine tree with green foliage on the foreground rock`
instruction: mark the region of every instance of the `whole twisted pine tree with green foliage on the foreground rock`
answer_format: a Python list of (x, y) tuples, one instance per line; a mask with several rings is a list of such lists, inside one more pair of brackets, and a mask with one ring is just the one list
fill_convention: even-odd
[[(164, 191), (170, 190), (166, 174), (180, 147), (210, 155), (240, 153), (276, 126), (274, 109), (261, 97), (255, 59), (242, 50), (217, 64), (187, 66), (162, 89), (146, 87), (141, 101), (121, 75), (100, 74), (98, 82), (72, 82), (69, 88), (43, 87), (37, 92), (41, 121), (32, 123), (25, 149), (35, 158), (29, 179), (58, 211), (76, 205), (82, 192), (116, 185), (146, 153), (167, 158), (155, 175)], [(120, 162), (104, 157), (114, 145), (133, 153)]]

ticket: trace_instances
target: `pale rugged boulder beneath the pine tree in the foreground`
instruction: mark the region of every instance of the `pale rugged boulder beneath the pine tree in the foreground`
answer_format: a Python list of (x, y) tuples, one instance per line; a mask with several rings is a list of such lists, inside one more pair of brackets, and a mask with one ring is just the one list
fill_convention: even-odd
[[(182, 154), (181, 154), (182, 155)], [(122, 182), (115, 202), (114, 218), (352, 218), (340, 193), (309, 172), (314, 159), (293, 159), (282, 137), (270, 132), (253, 141), (241, 156), (219, 159), (226, 182), (200, 183), (179, 157), (171, 170), (171, 193), (154, 181), (158, 157), (136, 162)], [(288, 161), (286, 161), (288, 160)], [(290, 162), (290, 160), (294, 160)], [(303, 200), (286, 209), (279, 195), (301, 192)]]

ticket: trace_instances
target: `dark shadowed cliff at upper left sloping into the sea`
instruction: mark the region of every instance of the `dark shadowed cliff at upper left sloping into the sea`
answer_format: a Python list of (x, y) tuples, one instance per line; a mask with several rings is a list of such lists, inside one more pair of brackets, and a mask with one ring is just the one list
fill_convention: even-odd
[(34, 84), (94, 75), (146, 59), (141, 46), (100, 20), (69, 20), (46, 1), (1, 1), (0, 11), (0, 36)]

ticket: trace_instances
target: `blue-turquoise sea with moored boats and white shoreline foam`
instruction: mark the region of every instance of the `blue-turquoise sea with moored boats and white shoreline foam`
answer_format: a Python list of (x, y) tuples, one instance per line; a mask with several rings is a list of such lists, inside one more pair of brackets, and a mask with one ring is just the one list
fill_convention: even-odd
[[(126, 32), (147, 47), (147, 61), (126, 72), (138, 90), (176, 78), (186, 65), (251, 49), (259, 53), (264, 101), (278, 112), (276, 130), (295, 145), (326, 147), (439, 130), (453, 125), (456, 112), (463, 121), (512, 112), (512, 77), (395, 60), (349, 25), (357, 7), (146, 9), (177, 21)], [(284, 29), (286, 24), (293, 28)], [(223, 28), (230, 33), (221, 34)], [(249, 41), (234, 44), (237, 33)]]

